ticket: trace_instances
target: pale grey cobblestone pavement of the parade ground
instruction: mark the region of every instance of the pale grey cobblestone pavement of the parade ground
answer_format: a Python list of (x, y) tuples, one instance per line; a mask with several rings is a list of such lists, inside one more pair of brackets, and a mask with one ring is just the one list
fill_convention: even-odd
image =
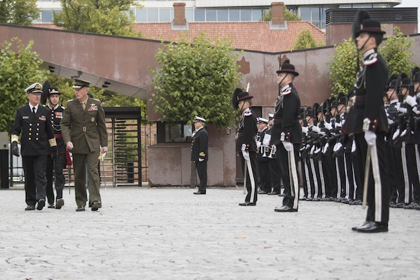
[(102, 188), (103, 208), (24, 211), (0, 191), (0, 279), (420, 279), (420, 211), (391, 209), (389, 232), (352, 232), (365, 210), (281, 197), (239, 207), (239, 189)]

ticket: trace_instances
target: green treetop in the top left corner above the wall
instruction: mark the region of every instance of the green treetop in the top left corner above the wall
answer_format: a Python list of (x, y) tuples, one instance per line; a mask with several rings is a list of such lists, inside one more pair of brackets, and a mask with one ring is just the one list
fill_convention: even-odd
[(36, 0), (0, 0), (0, 22), (12, 25), (32, 25), (41, 10)]

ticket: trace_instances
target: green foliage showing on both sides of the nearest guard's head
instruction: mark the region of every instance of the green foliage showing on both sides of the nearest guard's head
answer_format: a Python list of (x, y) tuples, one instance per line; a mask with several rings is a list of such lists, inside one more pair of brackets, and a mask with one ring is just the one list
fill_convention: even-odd
[[(384, 57), (389, 75), (401, 72), (409, 74), (416, 66), (415, 62), (410, 61), (415, 53), (410, 51), (414, 41), (409, 36), (403, 36), (399, 27), (394, 27), (393, 34), (379, 45), (378, 52)], [(334, 94), (346, 93), (353, 88), (357, 72), (357, 50), (351, 38), (335, 45), (335, 53), (328, 66), (330, 66), (330, 89)]]

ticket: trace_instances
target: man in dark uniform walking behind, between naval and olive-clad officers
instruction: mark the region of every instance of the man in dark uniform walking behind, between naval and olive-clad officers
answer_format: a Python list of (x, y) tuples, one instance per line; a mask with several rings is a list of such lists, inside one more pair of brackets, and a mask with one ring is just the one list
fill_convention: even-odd
[[(66, 178), (63, 174), (63, 169), (66, 166), (66, 146), (61, 134), (61, 127), (59, 124), (63, 118), (64, 107), (59, 105), (59, 95), (61, 92), (57, 87), (48, 88), (48, 109), (51, 110), (51, 124), (54, 132), (55, 141), (57, 141), (57, 158), (52, 160), (51, 151), (47, 157), (47, 199), (48, 208), (61, 209), (64, 205), (63, 188), (66, 183)], [(52, 189), (52, 170), (55, 174), (55, 191), (57, 193), (57, 200), (54, 200), (54, 190)], [(55, 206), (54, 206), (55, 202)]]

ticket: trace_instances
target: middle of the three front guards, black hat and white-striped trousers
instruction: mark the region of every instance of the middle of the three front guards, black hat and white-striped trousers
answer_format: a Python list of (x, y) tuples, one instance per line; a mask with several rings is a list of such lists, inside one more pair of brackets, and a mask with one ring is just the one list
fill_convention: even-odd
[[(299, 123), (300, 98), (293, 86), (293, 80), (299, 76), (295, 66), (288, 60), (281, 64), (277, 73), (279, 97), (274, 107), (274, 125), (270, 144), (276, 145), (283, 174), (283, 206), (276, 212), (297, 212), (299, 201), (299, 175), (297, 164), (299, 149), (302, 144), (302, 128)], [(291, 176), (291, 177), (290, 177)]]

